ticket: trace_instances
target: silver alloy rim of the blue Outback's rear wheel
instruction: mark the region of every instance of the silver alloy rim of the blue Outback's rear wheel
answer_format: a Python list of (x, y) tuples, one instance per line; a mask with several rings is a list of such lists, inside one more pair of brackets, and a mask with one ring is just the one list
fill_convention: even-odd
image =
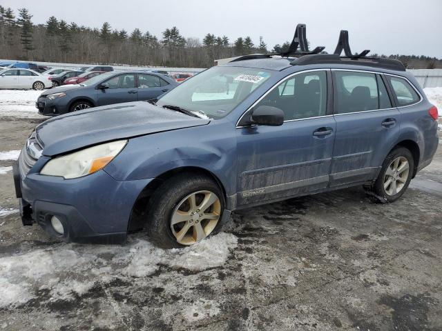
[(388, 165), (384, 176), (384, 190), (388, 195), (396, 195), (403, 190), (410, 173), (410, 164), (405, 157), (396, 157)]

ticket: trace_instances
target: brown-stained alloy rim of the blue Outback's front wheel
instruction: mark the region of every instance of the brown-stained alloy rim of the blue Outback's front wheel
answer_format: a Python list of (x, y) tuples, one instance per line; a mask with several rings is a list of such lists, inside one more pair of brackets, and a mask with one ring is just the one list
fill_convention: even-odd
[(220, 220), (221, 203), (211, 191), (189, 194), (172, 213), (171, 230), (178, 243), (192, 245), (206, 238)]

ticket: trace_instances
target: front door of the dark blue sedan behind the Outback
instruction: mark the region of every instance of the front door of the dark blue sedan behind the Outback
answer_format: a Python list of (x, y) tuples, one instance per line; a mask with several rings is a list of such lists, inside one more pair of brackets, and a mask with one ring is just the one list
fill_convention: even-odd
[(135, 87), (135, 74), (118, 74), (103, 83), (109, 88), (98, 90), (98, 105), (137, 101), (138, 91)]

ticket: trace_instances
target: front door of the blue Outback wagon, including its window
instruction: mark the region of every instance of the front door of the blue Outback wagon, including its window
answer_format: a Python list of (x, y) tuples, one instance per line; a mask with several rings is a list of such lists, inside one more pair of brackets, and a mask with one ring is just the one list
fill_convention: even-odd
[(253, 106), (280, 108), (285, 123), (237, 128), (238, 206), (327, 188), (336, 130), (327, 96), (326, 70), (301, 72)]

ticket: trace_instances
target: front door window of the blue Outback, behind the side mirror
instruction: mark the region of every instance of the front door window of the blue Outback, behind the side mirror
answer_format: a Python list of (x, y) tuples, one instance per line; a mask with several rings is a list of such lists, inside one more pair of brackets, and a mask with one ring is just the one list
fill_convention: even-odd
[(273, 88), (256, 106), (273, 106), (284, 112), (285, 121), (326, 114), (327, 76), (325, 71), (296, 74)]

